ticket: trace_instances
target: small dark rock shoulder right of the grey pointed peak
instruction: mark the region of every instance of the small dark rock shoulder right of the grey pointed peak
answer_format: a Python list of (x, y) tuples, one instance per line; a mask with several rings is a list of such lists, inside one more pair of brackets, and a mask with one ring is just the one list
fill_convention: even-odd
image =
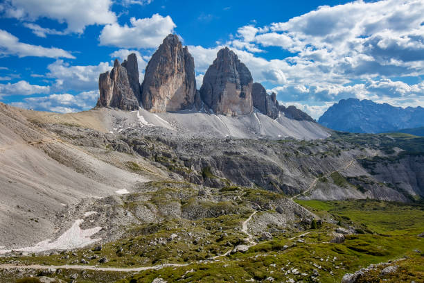
[(277, 119), (279, 117), (279, 102), (276, 101), (276, 94), (273, 92), (271, 95), (260, 83), (254, 83), (251, 88), (251, 98), (253, 105), (263, 114)]

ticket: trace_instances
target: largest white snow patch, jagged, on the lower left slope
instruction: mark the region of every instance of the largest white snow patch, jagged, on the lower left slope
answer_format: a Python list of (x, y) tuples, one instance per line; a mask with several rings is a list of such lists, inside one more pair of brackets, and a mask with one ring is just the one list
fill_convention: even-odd
[[(91, 245), (99, 239), (91, 239), (91, 236), (102, 230), (101, 227), (95, 227), (87, 230), (82, 230), (80, 224), (84, 222), (82, 219), (77, 219), (72, 227), (64, 232), (56, 241), (46, 239), (40, 241), (35, 246), (15, 249), (17, 252), (44, 252), (46, 250), (70, 250), (73, 248), (83, 248)], [(0, 255), (11, 252), (11, 250), (0, 250)]]

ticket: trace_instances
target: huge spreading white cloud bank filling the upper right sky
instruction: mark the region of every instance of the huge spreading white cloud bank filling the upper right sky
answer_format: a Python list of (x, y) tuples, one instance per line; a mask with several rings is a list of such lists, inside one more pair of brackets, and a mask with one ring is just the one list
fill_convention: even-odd
[(420, 76), (424, 74), (423, 15), (420, 0), (321, 6), (288, 22), (263, 28), (242, 26), (236, 35), (240, 42), (233, 40), (233, 47), (249, 51), (248, 47), (259, 44), (292, 52), (288, 58), (268, 62), (252, 54), (239, 55), (248, 67), (254, 65), (264, 72), (256, 80), (270, 80), (272, 76), (266, 75), (270, 67), (280, 69), (288, 83), (304, 85)]

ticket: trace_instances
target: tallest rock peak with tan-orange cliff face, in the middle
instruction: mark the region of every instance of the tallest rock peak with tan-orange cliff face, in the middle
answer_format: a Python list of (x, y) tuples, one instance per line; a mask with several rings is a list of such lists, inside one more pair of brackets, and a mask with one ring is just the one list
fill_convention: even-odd
[(168, 35), (152, 55), (141, 89), (143, 107), (151, 112), (193, 108), (196, 94), (194, 60), (177, 35)]

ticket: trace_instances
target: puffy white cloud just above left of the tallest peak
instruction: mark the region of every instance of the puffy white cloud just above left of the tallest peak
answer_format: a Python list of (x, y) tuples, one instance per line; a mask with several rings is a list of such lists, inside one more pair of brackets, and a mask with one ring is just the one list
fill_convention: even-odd
[(100, 45), (121, 48), (157, 48), (176, 27), (170, 16), (154, 14), (150, 18), (130, 19), (130, 26), (107, 24), (100, 33)]

